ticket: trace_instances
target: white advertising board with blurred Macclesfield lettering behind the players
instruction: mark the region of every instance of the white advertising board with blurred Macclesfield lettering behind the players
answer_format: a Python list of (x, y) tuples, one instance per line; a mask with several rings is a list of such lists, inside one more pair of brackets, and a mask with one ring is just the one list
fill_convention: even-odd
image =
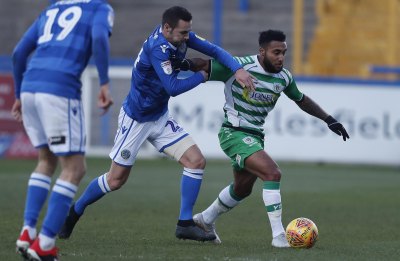
[[(107, 155), (112, 146), (120, 105), (130, 88), (130, 74), (130, 67), (110, 71), (115, 106), (107, 117), (99, 118), (95, 109), (96, 71), (91, 68), (85, 72), (85, 85), (91, 86), (84, 91), (86, 115), (90, 115), (90, 155)], [(399, 82), (314, 77), (298, 78), (297, 84), (345, 125), (350, 140), (343, 142), (324, 122), (304, 113), (282, 95), (265, 124), (265, 149), (274, 159), (400, 166)], [(193, 136), (207, 158), (226, 157), (217, 138), (223, 104), (220, 82), (201, 84), (170, 100), (170, 113)], [(139, 156), (151, 158), (160, 154), (145, 144)]]

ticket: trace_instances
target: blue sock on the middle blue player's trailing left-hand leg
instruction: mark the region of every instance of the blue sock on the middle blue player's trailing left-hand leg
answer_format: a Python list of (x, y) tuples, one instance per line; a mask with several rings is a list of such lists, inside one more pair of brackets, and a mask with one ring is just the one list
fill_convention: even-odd
[(78, 215), (82, 215), (85, 208), (102, 198), (106, 193), (110, 192), (111, 189), (107, 183), (107, 173), (95, 178), (86, 187), (85, 192), (75, 202), (75, 212)]

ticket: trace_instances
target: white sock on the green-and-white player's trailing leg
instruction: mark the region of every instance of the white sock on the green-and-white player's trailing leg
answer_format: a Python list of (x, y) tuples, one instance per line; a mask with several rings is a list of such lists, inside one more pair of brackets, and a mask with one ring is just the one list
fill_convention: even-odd
[(241, 199), (233, 194), (233, 186), (232, 188), (231, 186), (232, 185), (229, 185), (224, 188), (219, 193), (218, 198), (206, 210), (202, 212), (204, 222), (206, 222), (207, 224), (214, 223), (220, 215), (228, 212), (240, 203)]

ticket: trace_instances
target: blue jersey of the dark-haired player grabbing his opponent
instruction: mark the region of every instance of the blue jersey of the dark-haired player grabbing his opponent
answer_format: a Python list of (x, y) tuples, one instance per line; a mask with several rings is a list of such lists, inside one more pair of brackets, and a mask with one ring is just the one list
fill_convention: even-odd
[(158, 26), (143, 43), (132, 70), (131, 89), (123, 108), (129, 117), (138, 122), (155, 121), (168, 110), (168, 100), (193, 89), (203, 82), (200, 72), (189, 78), (178, 79), (178, 71), (171, 67), (170, 57), (183, 59), (187, 48), (214, 57), (233, 72), (241, 65), (225, 50), (189, 33), (186, 43), (175, 47), (163, 36)]

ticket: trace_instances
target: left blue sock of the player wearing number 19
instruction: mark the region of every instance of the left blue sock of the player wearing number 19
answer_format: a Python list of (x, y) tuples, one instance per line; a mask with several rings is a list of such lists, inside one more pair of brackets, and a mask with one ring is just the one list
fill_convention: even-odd
[(33, 172), (28, 182), (25, 202), (24, 226), (36, 227), (37, 219), (50, 190), (51, 178)]

